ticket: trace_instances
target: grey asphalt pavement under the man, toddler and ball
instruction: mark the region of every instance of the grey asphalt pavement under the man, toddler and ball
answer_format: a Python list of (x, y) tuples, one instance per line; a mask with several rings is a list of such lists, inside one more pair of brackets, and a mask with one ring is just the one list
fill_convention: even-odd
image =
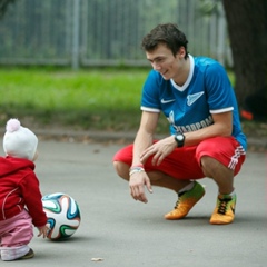
[[(36, 236), (36, 257), (1, 263), (19, 267), (265, 267), (267, 265), (267, 155), (248, 152), (235, 178), (234, 224), (214, 226), (209, 217), (217, 195), (215, 184), (200, 182), (206, 195), (187, 218), (168, 221), (177, 196), (154, 188), (148, 204), (131, 199), (128, 184), (112, 167), (123, 142), (40, 140), (36, 172), (43, 195), (66, 192), (80, 206), (81, 224), (72, 237), (51, 241)], [(1, 140), (0, 140), (1, 141)], [(1, 150), (2, 155), (2, 150)]]

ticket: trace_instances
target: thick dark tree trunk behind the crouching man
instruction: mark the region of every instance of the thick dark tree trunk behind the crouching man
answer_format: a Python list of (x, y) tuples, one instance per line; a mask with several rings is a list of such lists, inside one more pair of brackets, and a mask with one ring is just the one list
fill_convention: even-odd
[[(222, 0), (231, 43), (235, 90), (245, 97), (267, 91), (267, 0)], [(267, 106), (267, 103), (266, 103)]]

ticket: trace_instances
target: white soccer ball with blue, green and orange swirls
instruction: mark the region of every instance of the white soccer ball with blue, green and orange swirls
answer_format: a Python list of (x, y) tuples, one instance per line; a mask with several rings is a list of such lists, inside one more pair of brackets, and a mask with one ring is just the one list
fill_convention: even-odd
[(48, 233), (49, 239), (69, 238), (80, 226), (79, 206), (69, 195), (63, 192), (47, 195), (42, 197), (42, 206), (50, 227)]

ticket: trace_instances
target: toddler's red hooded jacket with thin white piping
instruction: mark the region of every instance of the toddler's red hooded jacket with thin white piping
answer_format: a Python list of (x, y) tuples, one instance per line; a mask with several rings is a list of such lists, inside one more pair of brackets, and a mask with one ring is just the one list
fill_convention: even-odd
[(0, 220), (27, 208), (36, 227), (47, 224), (34, 168), (28, 159), (0, 157)]

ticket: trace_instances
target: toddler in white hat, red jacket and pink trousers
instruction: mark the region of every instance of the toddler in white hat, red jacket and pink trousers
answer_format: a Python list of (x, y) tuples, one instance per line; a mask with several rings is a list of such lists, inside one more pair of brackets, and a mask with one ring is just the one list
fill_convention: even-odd
[(18, 119), (10, 119), (6, 130), (6, 157), (0, 157), (0, 253), (4, 261), (34, 256), (28, 246), (33, 237), (32, 225), (43, 238), (49, 230), (34, 174), (38, 138)]

